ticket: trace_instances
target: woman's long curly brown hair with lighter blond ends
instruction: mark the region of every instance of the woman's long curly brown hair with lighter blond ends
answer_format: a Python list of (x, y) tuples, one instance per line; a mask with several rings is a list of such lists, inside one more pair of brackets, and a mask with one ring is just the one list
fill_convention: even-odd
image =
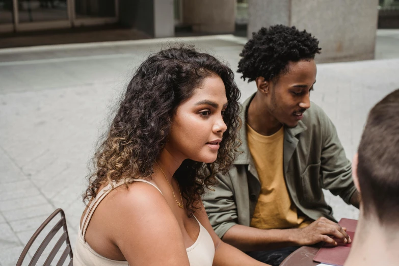
[(215, 57), (180, 45), (150, 55), (137, 69), (124, 92), (110, 129), (99, 141), (92, 159), (94, 170), (83, 195), (86, 203), (99, 187), (127, 178), (150, 178), (153, 164), (168, 141), (169, 129), (178, 106), (189, 99), (206, 77), (219, 76), (229, 102), (224, 113), (227, 130), (217, 159), (204, 164), (185, 159), (174, 176), (187, 209), (192, 214), (198, 200), (216, 184), (215, 174), (226, 173), (240, 145), (240, 90), (233, 71)]

